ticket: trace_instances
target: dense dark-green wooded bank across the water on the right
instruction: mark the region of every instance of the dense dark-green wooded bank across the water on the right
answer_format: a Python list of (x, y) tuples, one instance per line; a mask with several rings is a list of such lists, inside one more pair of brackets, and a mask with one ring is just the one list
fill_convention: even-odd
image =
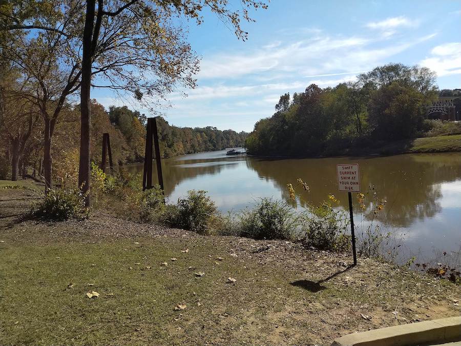
[[(255, 155), (374, 154), (386, 146), (391, 153), (408, 152), (413, 138), (461, 133), (459, 124), (427, 118), (426, 107), (439, 93), (448, 90), (437, 90), (432, 71), (402, 64), (376, 67), (334, 88), (312, 84), (282, 95), (276, 113), (256, 123), (246, 147)], [(443, 149), (449, 148), (434, 151)]]

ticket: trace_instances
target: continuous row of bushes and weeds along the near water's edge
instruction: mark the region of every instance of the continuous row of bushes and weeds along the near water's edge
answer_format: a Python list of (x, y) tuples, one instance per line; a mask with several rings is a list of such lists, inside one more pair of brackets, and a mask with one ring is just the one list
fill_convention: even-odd
[[(117, 218), (185, 229), (201, 235), (281, 239), (299, 242), (308, 249), (339, 253), (350, 251), (349, 217), (340, 207), (340, 201), (334, 195), (325, 196), (326, 200), (319, 205), (303, 201), (304, 197), (297, 191), (309, 193), (310, 188), (302, 179), (296, 181), (295, 187), (288, 184), (288, 201), (261, 198), (241, 211), (221, 214), (205, 191), (189, 191), (177, 201), (165, 202), (158, 186), (142, 191), (139, 174), (121, 170), (106, 175), (93, 165), (91, 176), (90, 194), (96, 210)], [(64, 180), (60, 188), (49, 190), (44, 197), (40, 195), (31, 215), (52, 222), (88, 218), (85, 196), (72, 186)], [(357, 194), (354, 203), (360, 207), (360, 221), (355, 222), (360, 256), (394, 263), (410, 261), (409, 266), (422, 263), (422, 258), (411, 259), (402, 250), (404, 236), (389, 231), (385, 208), (387, 201), (379, 197), (373, 186), (363, 194)], [(458, 271), (461, 257), (453, 259), (447, 256), (441, 261), (440, 266), (450, 268), (442, 277), (461, 283)], [(435, 268), (434, 261), (424, 265), (427, 271)]]

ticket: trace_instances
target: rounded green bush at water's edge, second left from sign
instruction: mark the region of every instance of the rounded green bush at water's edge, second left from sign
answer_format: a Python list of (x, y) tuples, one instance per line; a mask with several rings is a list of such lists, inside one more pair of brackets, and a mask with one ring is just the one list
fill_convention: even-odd
[(288, 202), (262, 198), (240, 216), (241, 234), (255, 239), (290, 239), (299, 217)]

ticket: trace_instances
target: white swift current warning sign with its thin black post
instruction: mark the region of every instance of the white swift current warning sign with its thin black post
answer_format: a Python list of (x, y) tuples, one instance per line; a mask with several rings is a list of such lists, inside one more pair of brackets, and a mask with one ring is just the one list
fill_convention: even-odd
[(355, 250), (354, 214), (352, 210), (352, 192), (360, 192), (360, 172), (358, 164), (337, 165), (339, 191), (347, 192), (349, 197), (350, 235), (352, 238), (352, 253), (354, 266), (357, 265), (357, 251)]

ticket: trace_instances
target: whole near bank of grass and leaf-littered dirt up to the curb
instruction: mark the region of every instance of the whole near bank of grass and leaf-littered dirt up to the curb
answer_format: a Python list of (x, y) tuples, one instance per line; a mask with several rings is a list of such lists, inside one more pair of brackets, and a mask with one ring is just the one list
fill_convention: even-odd
[(0, 344), (328, 345), (461, 314), (459, 286), (389, 263), (104, 212), (22, 219), (33, 195), (0, 190)]

